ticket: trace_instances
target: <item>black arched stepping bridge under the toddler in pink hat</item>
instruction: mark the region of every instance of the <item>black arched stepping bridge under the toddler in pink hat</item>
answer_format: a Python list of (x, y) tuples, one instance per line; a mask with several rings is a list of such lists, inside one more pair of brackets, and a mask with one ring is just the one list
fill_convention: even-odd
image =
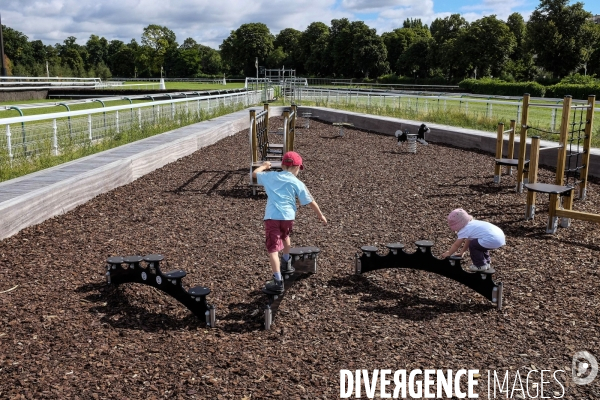
[(361, 247), (362, 255), (356, 254), (355, 273), (364, 274), (384, 268), (407, 268), (433, 272), (468, 286), (483, 297), (502, 309), (502, 282), (495, 283), (492, 274), (496, 271), (490, 268), (481, 272), (467, 272), (461, 267), (461, 257), (450, 256), (440, 260), (431, 252), (433, 242), (419, 240), (415, 242), (417, 250), (407, 253), (402, 243), (390, 243), (390, 250), (385, 256), (377, 254), (377, 247)]

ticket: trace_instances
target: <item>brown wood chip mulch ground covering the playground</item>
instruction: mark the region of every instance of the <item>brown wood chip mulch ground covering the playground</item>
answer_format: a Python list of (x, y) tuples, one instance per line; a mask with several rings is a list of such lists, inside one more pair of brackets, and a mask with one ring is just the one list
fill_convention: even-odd
[[(600, 356), (599, 226), (545, 234), (547, 196), (525, 221), (514, 176), (493, 184), (493, 157), (480, 152), (430, 143), (412, 154), (391, 136), (299, 122), (299, 177), (329, 223), (299, 210), (292, 243), (319, 247), (319, 270), (264, 330), (266, 197), (247, 185), (248, 147), (240, 132), (0, 242), (0, 398), (333, 399), (340, 369), (384, 368), (479, 369), (480, 398), (487, 371), (510, 371), (512, 385), (516, 371), (564, 370), (563, 398), (600, 398), (600, 378), (571, 379), (577, 351)], [(354, 275), (363, 245), (414, 251), (428, 239), (442, 254), (457, 207), (507, 236), (492, 252), (501, 311), (422, 271)], [(574, 208), (600, 213), (600, 185)], [(152, 253), (185, 270), (187, 288), (211, 288), (215, 329), (154, 288), (106, 285), (107, 257)], [(545, 396), (560, 394), (548, 385)]]

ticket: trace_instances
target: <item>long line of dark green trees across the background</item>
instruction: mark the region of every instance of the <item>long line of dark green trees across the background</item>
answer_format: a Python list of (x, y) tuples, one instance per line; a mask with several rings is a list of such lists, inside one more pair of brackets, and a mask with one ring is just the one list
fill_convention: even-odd
[(263, 23), (231, 31), (219, 50), (187, 38), (182, 44), (166, 26), (144, 28), (141, 43), (91, 35), (85, 45), (29, 41), (2, 26), (12, 75), (109, 78), (256, 76), (255, 59), (269, 69), (295, 69), (297, 76), (410, 79), (459, 82), (468, 77), (506, 81), (558, 80), (571, 74), (600, 74), (600, 25), (580, 2), (541, 0), (525, 21), (490, 15), (467, 22), (460, 14), (430, 26), (407, 19), (378, 35), (363, 21), (334, 19), (271, 34)]

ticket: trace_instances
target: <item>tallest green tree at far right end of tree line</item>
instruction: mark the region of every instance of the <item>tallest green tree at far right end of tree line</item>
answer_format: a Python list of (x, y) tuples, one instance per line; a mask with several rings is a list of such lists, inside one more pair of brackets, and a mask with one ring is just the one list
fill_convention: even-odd
[(589, 37), (585, 26), (591, 14), (582, 3), (569, 0), (541, 0), (527, 22), (528, 46), (538, 66), (555, 78), (563, 77), (582, 65)]

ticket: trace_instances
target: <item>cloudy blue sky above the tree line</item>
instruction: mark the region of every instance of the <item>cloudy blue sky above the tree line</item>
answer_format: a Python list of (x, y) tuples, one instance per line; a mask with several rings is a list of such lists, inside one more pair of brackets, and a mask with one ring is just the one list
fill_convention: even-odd
[[(582, 0), (584, 9), (600, 14), (599, 0)], [(571, 2), (571, 4), (574, 2)], [(513, 12), (525, 20), (539, 0), (2, 0), (2, 24), (45, 44), (69, 37), (85, 45), (90, 35), (108, 41), (140, 42), (146, 26), (172, 30), (179, 44), (192, 38), (218, 49), (242, 24), (262, 22), (272, 34), (285, 28), (304, 31), (312, 22), (364, 21), (378, 34), (402, 27), (407, 18), (430, 24), (461, 14), (467, 21), (495, 14), (506, 20)]]

